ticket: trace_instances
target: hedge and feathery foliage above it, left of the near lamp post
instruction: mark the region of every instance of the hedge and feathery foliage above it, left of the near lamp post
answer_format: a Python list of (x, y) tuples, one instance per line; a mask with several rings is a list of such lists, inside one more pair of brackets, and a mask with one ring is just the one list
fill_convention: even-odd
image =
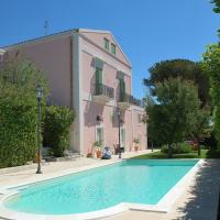
[(29, 61), (8, 61), (0, 69), (0, 167), (23, 165), (35, 157), (36, 84), (44, 87), (46, 97), (46, 81)]

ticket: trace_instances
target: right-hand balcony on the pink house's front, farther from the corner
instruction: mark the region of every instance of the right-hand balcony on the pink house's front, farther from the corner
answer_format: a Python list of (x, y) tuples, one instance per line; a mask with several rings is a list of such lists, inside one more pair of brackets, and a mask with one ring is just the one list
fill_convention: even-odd
[(121, 92), (120, 96), (119, 96), (119, 101), (118, 101), (119, 108), (128, 109), (132, 105), (143, 107), (142, 100), (136, 99), (129, 94)]

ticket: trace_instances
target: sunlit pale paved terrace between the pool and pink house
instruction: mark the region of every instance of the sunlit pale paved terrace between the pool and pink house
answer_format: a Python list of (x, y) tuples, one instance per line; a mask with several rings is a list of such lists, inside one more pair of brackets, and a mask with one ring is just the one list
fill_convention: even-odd
[[(122, 158), (130, 158), (132, 156), (138, 156), (147, 153), (151, 153), (151, 150), (127, 152), (122, 153)], [(112, 162), (119, 161), (118, 157), (118, 155), (112, 155), (111, 160), (78, 157), (73, 161), (48, 162), (42, 165), (43, 174), (35, 174), (37, 164), (19, 166), (15, 167), (15, 170), (14, 167), (2, 168), (0, 169), (0, 191), (2, 188), (14, 185), (34, 183), (36, 180), (59, 176), (62, 174), (75, 173), (78, 170), (84, 170), (100, 165), (108, 165)]]

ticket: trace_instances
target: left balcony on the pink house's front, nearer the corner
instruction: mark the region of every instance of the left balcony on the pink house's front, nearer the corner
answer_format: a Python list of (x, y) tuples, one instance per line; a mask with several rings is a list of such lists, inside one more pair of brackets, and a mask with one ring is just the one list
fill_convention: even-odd
[(92, 100), (106, 105), (113, 99), (114, 90), (103, 84), (95, 84), (92, 88)]

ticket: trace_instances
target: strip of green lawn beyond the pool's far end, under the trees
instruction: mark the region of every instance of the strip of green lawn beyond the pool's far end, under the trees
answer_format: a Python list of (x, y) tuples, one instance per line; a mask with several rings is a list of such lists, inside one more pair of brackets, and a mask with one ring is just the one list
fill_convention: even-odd
[[(134, 156), (132, 158), (168, 158), (168, 157), (167, 157), (167, 154), (164, 154), (161, 151), (158, 151), (158, 152), (153, 152), (150, 154), (144, 154), (141, 156)], [(185, 153), (185, 154), (173, 154), (172, 158), (220, 158), (220, 153), (209, 151), (209, 150), (201, 150), (200, 156), (198, 156), (197, 151), (194, 151), (194, 152)]]

